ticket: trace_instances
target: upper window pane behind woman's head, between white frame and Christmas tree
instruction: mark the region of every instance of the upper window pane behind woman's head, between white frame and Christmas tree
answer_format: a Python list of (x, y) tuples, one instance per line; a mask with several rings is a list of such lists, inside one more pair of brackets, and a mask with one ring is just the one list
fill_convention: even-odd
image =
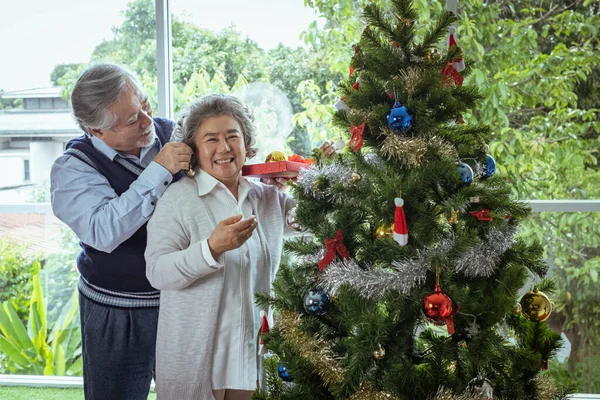
[(209, 93), (242, 98), (258, 128), (251, 163), (273, 150), (307, 156), (333, 136), (323, 96), (340, 76), (301, 41), (316, 19), (302, 0), (173, 0), (173, 13), (176, 111)]

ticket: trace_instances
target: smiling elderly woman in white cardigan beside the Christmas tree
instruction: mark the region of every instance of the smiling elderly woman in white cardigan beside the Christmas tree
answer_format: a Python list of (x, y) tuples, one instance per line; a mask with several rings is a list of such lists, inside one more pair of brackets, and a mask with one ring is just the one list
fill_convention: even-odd
[(260, 311), (281, 258), (293, 199), (241, 176), (256, 150), (251, 116), (235, 97), (193, 103), (182, 141), (193, 177), (169, 186), (148, 223), (148, 280), (161, 290), (159, 399), (250, 399), (260, 370)]

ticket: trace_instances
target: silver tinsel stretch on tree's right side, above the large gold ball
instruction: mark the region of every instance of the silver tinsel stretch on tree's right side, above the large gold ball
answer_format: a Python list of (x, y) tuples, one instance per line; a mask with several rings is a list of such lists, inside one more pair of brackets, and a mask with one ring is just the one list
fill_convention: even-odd
[(491, 230), (477, 246), (466, 250), (454, 261), (454, 269), (469, 278), (489, 278), (494, 274), (502, 255), (514, 243), (515, 228), (505, 225)]

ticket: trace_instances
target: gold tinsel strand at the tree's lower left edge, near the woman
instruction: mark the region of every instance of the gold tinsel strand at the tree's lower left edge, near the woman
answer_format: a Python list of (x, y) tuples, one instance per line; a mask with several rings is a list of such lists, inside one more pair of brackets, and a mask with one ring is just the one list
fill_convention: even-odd
[(310, 361), (326, 385), (336, 385), (344, 381), (344, 370), (333, 358), (333, 352), (325, 341), (317, 336), (309, 336), (298, 327), (301, 316), (291, 311), (280, 314), (279, 329), (286, 342), (294, 346), (300, 356)]

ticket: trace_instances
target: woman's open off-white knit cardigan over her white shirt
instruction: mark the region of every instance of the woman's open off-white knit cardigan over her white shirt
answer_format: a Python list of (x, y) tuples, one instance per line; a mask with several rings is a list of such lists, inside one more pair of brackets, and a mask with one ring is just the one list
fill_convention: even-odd
[[(284, 233), (291, 233), (286, 213), (295, 202), (273, 185), (250, 183), (247, 198), (256, 212), (255, 232), (263, 239), (272, 283)], [(161, 290), (161, 308), (179, 310), (161, 312), (158, 322), (156, 392), (161, 400), (213, 399), (211, 361), (224, 273), (210, 266), (202, 253), (202, 242), (213, 232), (215, 221), (199, 191), (192, 178), (170, 185), (148, 222), (148, 280)]]

